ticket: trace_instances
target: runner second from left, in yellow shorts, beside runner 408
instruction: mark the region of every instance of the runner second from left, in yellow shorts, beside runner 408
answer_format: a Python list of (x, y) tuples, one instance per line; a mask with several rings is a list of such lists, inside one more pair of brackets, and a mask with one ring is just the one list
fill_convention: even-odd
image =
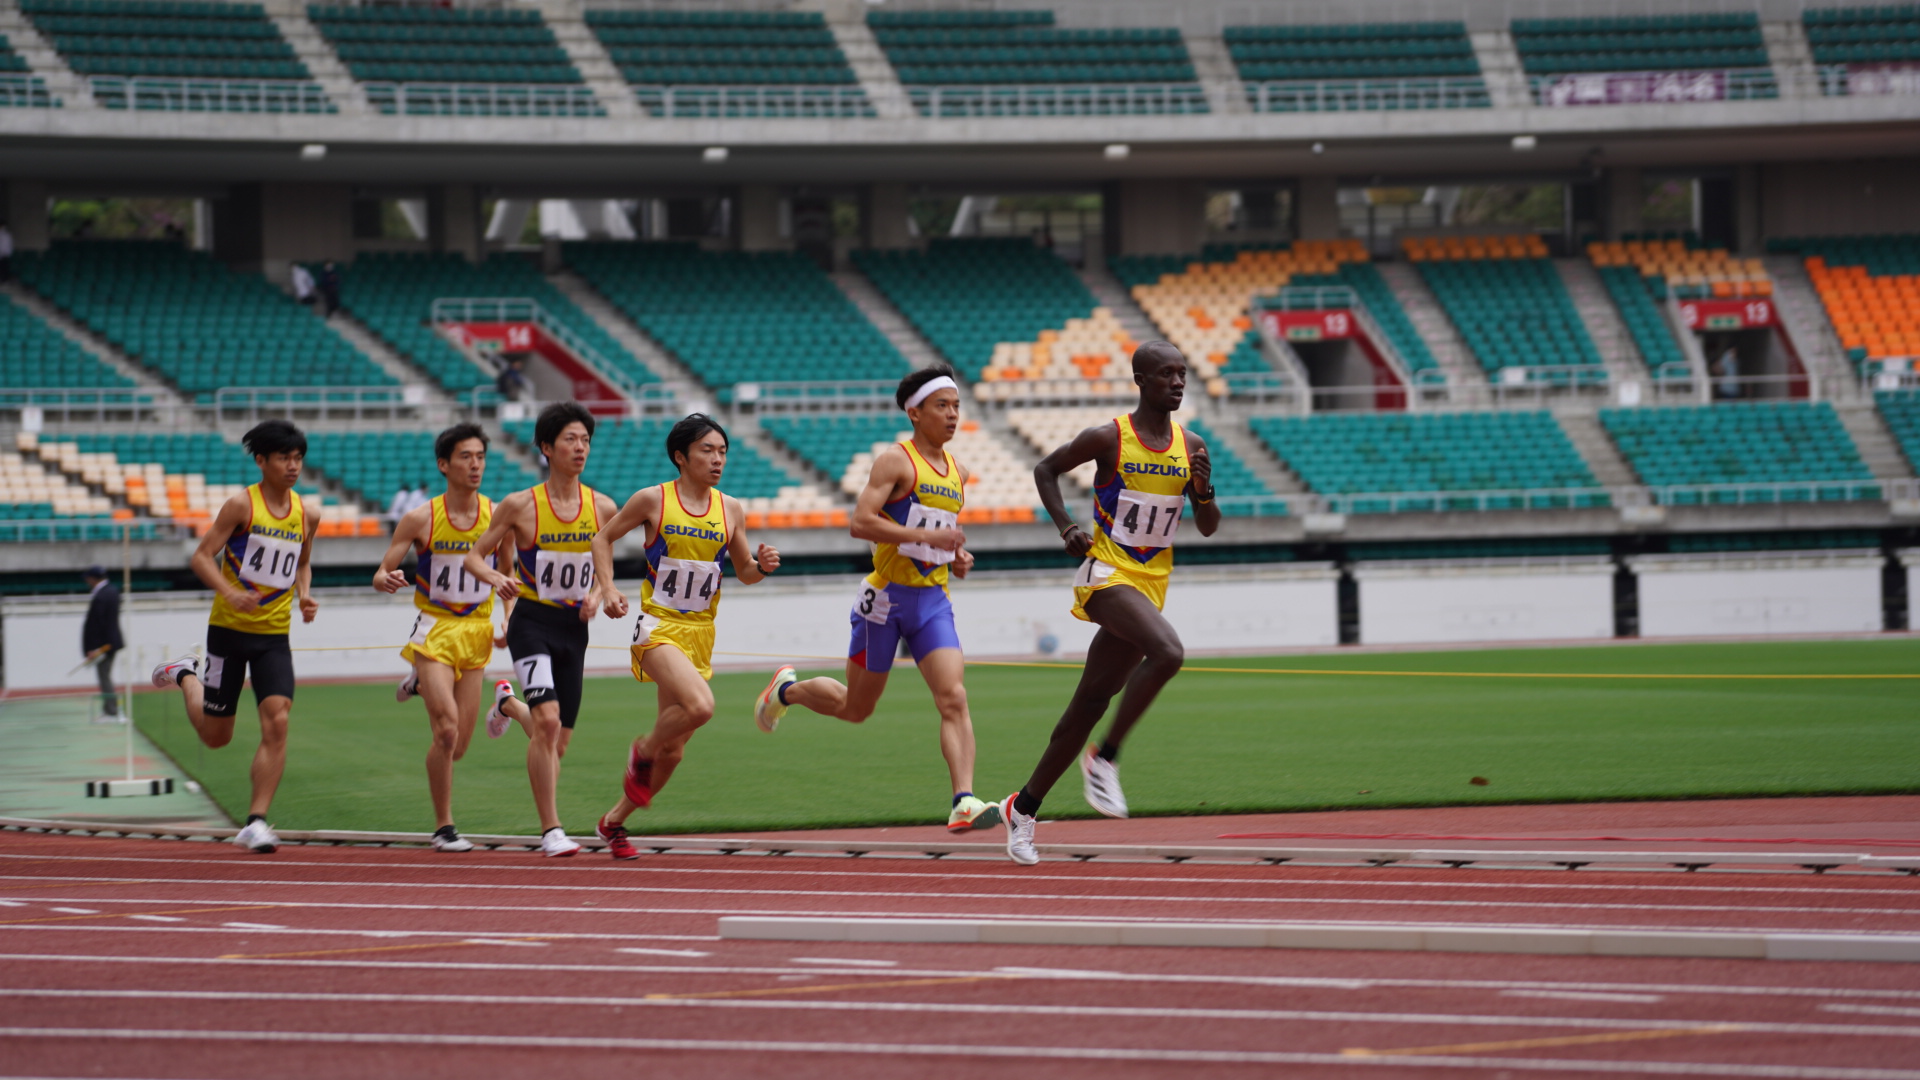
[[(453, 763), (467, 755), (480, 711), (480, 686), (493, 650), (507, 636), (493, 630), (493, 590), (467, 573), (467, 552), (493, 519), (493, 500), (480, 494), (486, 479), (486, 430), (463, 423), (440, 432), (434, 440), (434, 461), (447, 479), (447, 490), (426, 505), (407, 511), (394, 528), (394, 542), (372, 575), (380, 592), (407, 588), (407, 573), (399, 559), (413, 548), (419, 563), (413, 571), (413, 634), (399, 655), (413, 671), (399, 680), (394, 698), (405, 701), (419, 696), (426, 703), (426, 721), (434, 742), (426, 748), (426, 790), (434, 799), (434, 851), (472, 851), (453, 828)], [(461, 525), (465, 523), (465, 525)], [(513, 559), (505, 540), (484, 553), (488, 567)], [(513, 601), (507, 600), (507, 619)]]

